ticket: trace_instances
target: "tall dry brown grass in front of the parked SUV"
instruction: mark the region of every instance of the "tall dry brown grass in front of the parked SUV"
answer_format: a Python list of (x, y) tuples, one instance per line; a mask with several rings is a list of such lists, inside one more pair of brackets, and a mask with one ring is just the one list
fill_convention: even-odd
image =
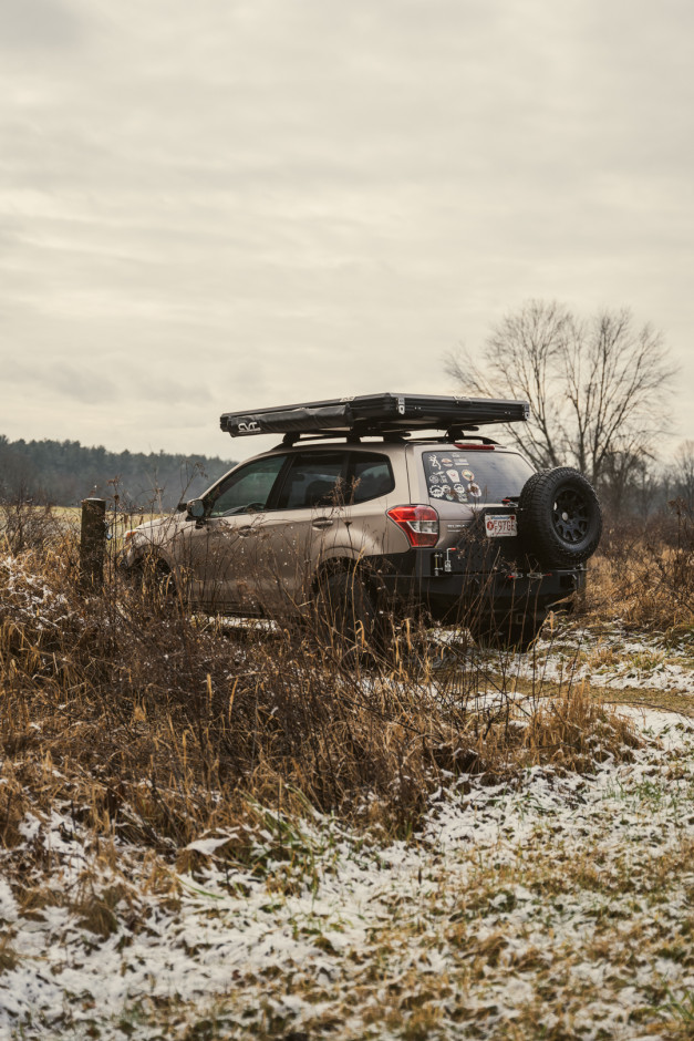
[(460, 773), (591, 770), (597, 748), (633, 743), (570, 678), (519, 714), (508, 661), (476, 655), (465, 632), (442, 642), (419, 623), (387, 655), (345, 656), (320, 626), (196, 616), (113, 566), (85, 595), (76, 561), (64, 530), (0, 558), (6, 846), (56, 801), (96, 834), (158, 851), (259, 805), (403, 835)]

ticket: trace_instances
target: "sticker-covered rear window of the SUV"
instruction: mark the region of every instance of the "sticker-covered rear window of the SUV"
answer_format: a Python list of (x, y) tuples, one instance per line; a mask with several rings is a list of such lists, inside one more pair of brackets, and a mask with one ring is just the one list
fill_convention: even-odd
[(520, 495), (535, 472), (520, 455), (490, 449), (434, 449), (422, 455), (422, 462), (432, 502), (445, 499), (470, 506)]

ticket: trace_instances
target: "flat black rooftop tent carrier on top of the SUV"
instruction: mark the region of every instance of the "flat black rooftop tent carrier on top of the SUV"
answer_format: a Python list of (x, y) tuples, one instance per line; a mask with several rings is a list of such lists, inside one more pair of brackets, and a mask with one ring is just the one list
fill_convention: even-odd
[[(490, 423), (528, 419), (525, 401), (434, 394), (362, 394), (302, 404), (225, 412), (219, 425), (232, 437), (255, 434), (312, 436), (406, 436), (418, 430), (443, 430), (452, 439)], [(293, 443), (293, 442), (292, 442)]]

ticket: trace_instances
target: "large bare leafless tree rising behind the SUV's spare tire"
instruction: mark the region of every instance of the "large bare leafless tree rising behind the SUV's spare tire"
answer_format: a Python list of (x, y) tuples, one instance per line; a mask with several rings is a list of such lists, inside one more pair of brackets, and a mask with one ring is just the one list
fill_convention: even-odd
[(541, 300), (491, 330), (481, 364), (467, 351), (449, 357), (446, 371), (465, 393), (529, 402), (528, 427), (508, 433), (536, 467), (571, 463), (615, 493), (667, 426), (675, 373), (662, 336), (636, 327), (629, 310), (582, 320)]

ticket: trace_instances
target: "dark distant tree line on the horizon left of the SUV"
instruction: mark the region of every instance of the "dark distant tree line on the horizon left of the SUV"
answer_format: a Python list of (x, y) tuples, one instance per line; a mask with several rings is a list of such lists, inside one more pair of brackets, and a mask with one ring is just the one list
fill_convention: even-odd
[(170, 452), (108, 452), (79, 441), (9, 441), (0, 434), (0, 499), (74, 506), (91, 495), (126, 508), (172, 509), (234, 463)]

